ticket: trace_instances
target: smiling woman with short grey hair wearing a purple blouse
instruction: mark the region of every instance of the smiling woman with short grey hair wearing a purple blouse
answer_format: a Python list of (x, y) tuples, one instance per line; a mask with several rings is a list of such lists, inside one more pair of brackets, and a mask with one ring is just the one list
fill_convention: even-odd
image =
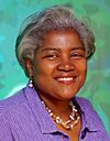
[(109, 141), (85, 98), (87, 62), (95, 36), (68, 7), (26, 19), (15, 45), (28, 86), (0, 102), (0, 141)]

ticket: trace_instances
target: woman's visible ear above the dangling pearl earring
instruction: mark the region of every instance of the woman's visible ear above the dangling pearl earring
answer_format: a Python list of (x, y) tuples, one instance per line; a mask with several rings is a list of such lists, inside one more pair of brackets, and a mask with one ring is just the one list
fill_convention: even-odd
[(30, 78), (32, 78), (32, 76), (33, 76), (33, 63), (30, 58), (25, 59), (25, 66), (26, 66)]

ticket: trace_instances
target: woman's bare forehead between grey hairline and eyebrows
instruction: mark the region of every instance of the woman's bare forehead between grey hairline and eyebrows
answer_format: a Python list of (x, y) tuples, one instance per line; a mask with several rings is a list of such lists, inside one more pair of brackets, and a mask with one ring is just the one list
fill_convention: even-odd
[(82, 42), (79, 35), (72, 29), (66, 30), (53, 30), (44, 34), (43, 44), (41, 50), (45, 47), (52, 48), (69, 48), (80, 47), (84, 48)]

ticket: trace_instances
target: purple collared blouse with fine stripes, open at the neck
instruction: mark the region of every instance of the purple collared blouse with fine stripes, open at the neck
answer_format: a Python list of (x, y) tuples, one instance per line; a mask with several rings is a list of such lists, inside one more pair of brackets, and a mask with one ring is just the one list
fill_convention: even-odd
[[(79, 141), (110, 141), (102, 121), (85, 98), (75, 98), (81, 109)], [(59, 131), (34, 88), (25, 87), (0, 101), (0, 141), (70, 141)]]

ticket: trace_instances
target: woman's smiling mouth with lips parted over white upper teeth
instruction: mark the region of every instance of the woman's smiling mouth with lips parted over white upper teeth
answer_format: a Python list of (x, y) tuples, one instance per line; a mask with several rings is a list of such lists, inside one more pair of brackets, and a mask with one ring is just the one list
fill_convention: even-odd
[(57, 77), (56, 80), (62, 84), (72, 85), (77, 82), (77, 76), (74, 77)]

